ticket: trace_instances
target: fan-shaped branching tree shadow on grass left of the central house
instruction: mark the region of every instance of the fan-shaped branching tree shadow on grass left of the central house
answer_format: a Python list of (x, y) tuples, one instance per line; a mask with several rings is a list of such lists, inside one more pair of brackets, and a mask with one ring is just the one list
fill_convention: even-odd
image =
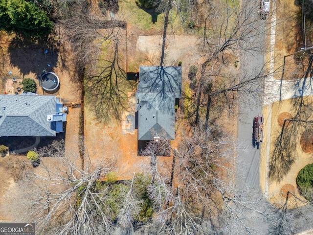
[(134, 81), (127, 81), (123, 69), (123, 58), (116, 38), (115, 45), (108, 48), (109, 59), (99, 58), (98, 71), (85, 79), (86, 102), (98, 120), (107, 122), (111, 118), (121, 119), (123, 111), (129, 108), (128, 92), (134, 92)]

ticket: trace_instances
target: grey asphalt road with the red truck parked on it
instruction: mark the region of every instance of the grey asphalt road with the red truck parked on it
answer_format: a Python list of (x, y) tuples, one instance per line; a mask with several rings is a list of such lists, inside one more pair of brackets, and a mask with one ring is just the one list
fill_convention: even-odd
[[(255, 24), (260, 24), (255, 26), (261, 31), (266, 28), (262, 20)], [(257, 42), (259, 44), (260, 51), (246, 51), (242, 53), (239, 70), (241, 77), (258, 74), (262, 71), (265, 63), (266, 52), (262, 51), (262, 48), (265, 47), (266, 34), (259, 34), (250, 40), (251, 43), (255, 44)], [(263, 83), (264, 81), (260, 80), (258, 84), (253, 86), (263, 87)], [(250, 200), (251, 205), (249, 206), (254, 208), (245, 211), (243, 216), (245, 217), (244, 223), (251, 228), (251, 234), (256, 235), (268, 234), (269, 229), (269, 225), (263, 219), (263, 216), (254, 211), (264, 211), (264, 206), (267, 205), (267, 201), (260, 189), (260, 151), (262, 142), (258, 144), (253, 142), (253, 118), (258, 114), (262, 114), (263, 98), (262, 93), (258, 95), (253, 93), (240, 94), (237, 132), (240, 149), (237, 151), (236, 189), (237, 193), (246, 194), (244, 198)], [(254, 204), (253, 200), (257, 203)], [(241, 216), (240, 212), (239, 215)]]

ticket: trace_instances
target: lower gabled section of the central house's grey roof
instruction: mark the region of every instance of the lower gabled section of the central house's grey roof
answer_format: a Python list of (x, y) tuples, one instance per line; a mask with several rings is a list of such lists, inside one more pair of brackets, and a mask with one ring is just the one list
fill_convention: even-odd
[(140, 100), (138, 110), (138, 140), (153, 140), (155, 135), (164, 133), (170, 140), (175, 139), (175, 97), (174, 93), (136, 93)]

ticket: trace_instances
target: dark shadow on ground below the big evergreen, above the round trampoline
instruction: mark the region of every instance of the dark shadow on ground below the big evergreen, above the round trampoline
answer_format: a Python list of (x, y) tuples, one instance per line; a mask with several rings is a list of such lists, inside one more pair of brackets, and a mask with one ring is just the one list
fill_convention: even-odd
[(59, 48), (52, 37), (30, 40), (16, 36), (10, 42), (8, 52), (10, 64), (18, 67), (22, 75), (30, 72), (39, 75), (56, 67)]

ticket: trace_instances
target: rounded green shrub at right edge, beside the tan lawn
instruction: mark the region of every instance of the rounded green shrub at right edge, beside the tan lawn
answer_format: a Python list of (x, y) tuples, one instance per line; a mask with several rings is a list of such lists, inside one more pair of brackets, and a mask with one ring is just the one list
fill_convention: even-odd
[(302, 168), (296, 179), (297, 185), (302, 195), (312, 201), (313, 199), (313, 164), (307, 164)]

